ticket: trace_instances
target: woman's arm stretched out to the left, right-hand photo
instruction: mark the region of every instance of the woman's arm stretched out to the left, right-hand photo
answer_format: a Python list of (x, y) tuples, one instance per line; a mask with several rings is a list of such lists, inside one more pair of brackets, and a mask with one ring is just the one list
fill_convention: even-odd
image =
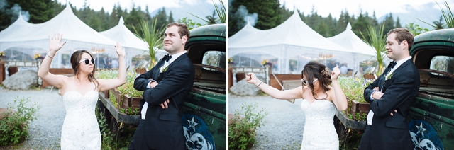
[(292, 90), (284, 90), (280, 91), (277, 88), (273, 88), (272, 86), (268, 86), (266, 83), (263, 83), (254, 73), (246, 74), (246, 81), (248, 83), (253, 83), (255, 86), (260, 88), (263, 92), (267, 93), (269, 96), (277, 99), (282, 100), (289, 100), (289, 99), (296, 99), (301, 98), (303, 93), (303, 87), (299, 86), (298, 88), (294, 88)]

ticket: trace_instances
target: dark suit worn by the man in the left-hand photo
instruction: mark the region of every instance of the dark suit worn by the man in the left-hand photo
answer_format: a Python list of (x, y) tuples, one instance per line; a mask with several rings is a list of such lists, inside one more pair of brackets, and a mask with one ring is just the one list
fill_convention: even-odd
[[(145, 120), (140, 119), (129, 149), (186, 149), (179, 109), (194, 83), (194, 66), (186, 53), (175, 59), (167, 71), (160, 73), (164, 62), (161, 60), (134, 81), (134, 88), (143, 91), (140, 110), (145, 101), (148, 108)], [(150, 78), (157, 81), (155, 88), (147, 88)], [(169, 107), (162, 109), (160, 104), (167, 99), (170, 99)]]

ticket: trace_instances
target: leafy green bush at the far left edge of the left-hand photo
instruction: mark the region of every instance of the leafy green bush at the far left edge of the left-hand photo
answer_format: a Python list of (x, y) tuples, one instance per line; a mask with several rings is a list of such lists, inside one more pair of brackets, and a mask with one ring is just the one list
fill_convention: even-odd
[(28, 123), (36, 119), (36, 111), (40, 109), (38, 103), (33, 103), (31, 106), (26, 104), (30, 102), (30, 98), (16, 97), (14, 103), (17, 104), (17, 111), (13, 110), (11, 103), (8, 104), (4, 116), (0, 120), (0, 146), (7, 144), (18, 144), (28, 137)]

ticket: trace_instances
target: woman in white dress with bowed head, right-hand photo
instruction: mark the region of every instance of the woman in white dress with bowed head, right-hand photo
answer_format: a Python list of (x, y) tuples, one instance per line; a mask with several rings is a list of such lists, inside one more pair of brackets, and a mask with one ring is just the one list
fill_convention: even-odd
[[(333, 125), (337, 110), (348, 107), (347, 99), (338, 83), (341, 74), (339, 67), (333, 72), (326, 70), (319, 62), (309, 62), (301, 71), (303, 86), (292, 90), (279, 91), (258, 80), (255, 74), (248, 73), (246, 81), (258, 86), (260, 90), (277, 99), (303, 98), (301, 109), (306, 123), (303, 129), (301, 149), (339, 149), (339, 139)], [(332, 86), (330, 84), (332, 83)]]

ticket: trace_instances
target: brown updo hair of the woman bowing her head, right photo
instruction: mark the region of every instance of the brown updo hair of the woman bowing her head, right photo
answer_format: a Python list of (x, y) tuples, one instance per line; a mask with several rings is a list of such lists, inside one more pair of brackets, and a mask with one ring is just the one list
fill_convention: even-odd
[(304, 65), (304, 69), (303, 71), (301, 71), (301, 79), (304, 78), (304, 76), (306, 76), (307, 78), (304, 79), (307, 81), (307, 85), (304, 85), (304, 83), (302, 83), (303, 86), (308, 86), (312, 91), (312, 96), (314, 96), (316, 100), (321, 100), (316, 98), (314, 83), (312, 81), (314, 81), (314, 78), (319, 79), (318, 81), (321, 83), (321, 88), (323, 88), (323, 92), (326, 93), (326, 91), (330, 89), (329, 85), (331, 85), (332, 82), (331, 71), (329, 71), (329, 69), (320, 62), (311, 61)]

